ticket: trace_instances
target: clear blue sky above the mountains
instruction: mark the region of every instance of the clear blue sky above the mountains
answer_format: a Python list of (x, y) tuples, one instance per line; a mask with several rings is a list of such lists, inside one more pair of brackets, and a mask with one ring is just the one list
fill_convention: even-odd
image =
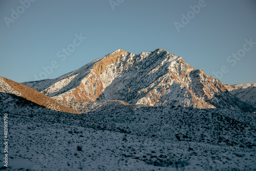
[[(0, 76), (14, 81), (34, 80), (52, 61), (55, 68), (47, 78), (117, 49), (139, 54), (162, 48), (215, 78), (213, 72), (226, 66), (219, 77), (223, 83), (256, 82), (254, 0), (112, 0), (112, 5), (109, 0), (37, 0), (30, 6), (28, 1), (0, 2)], [(200, 11), (193, 12), (195, 5), (202, 6)], [(179, 32), (175, 22), (183, 22)], [(74, 46), (80, 33), (87, 38), (76, 39)], [(250, 38), (252, 47), (245, 45)], [(68, 46), (72, 52), (65, 55), (61, 50)], [(240, 60), (230, 56), (238, 52)]]

